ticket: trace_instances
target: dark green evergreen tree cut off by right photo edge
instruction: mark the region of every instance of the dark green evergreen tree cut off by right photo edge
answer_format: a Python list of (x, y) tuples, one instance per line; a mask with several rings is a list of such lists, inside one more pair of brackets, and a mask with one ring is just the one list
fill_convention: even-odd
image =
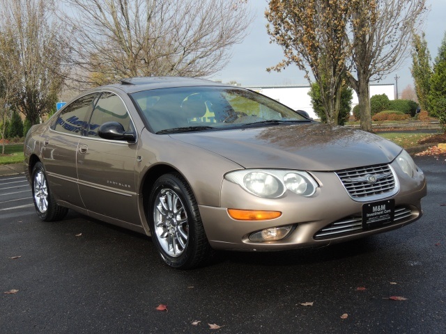
[(433, 64), (430, 84), (429, 104), (431, 114), (440, 119), (440, 125), (446, 132), (446, 33)]

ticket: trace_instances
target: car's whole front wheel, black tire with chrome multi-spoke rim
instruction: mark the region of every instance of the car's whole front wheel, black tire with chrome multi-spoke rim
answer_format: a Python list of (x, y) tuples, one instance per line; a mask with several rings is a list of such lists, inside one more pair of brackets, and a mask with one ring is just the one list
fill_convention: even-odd
[(153, 244), (162, 260), (177, 269), (206, 264), (213, 250), (187, 182), (178, 173), (162, 175), (156, 180), (148, 203)]

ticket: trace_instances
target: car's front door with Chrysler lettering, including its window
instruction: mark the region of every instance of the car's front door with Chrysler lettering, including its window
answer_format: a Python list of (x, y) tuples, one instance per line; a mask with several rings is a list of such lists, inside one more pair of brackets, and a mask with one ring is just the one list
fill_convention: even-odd
[[(79, 192), (89, 212), (140, 225), (134, 180), (137, 145), (100, 138), (105, 122), (119, 122), (134, 131), (128, 109), (115, 93), (100, 95), (86, 136), (79, 141), (77, 174)], [(100, 218), (98, 216), (98, 218)]]

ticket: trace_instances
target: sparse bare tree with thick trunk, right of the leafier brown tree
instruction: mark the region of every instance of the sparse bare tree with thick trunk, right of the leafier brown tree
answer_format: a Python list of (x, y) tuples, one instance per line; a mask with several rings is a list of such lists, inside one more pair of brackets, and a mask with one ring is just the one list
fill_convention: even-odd
[(351, 87), (360, 105), (361, 129), (371, 131), (369, 82), (383, 79), (397, 70), (410, 55), (413, 31), (426, 13), (426, 0), (353, 0), (351, 45), (353, 71)]

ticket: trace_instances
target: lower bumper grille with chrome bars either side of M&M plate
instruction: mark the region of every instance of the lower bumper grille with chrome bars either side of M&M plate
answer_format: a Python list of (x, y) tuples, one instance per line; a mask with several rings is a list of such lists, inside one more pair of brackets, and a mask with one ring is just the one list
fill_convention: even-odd
[[(407, 207), (395, 207), (395, 216), (393, 222), (387, 223), (402, 223), (407, 221), (407, 218), (412, 216), (412, 212)], [(340, 234), (355, 234), (355, 232), (362, 231), (362, 217), (351, 216), (348, 218), (343, 218), (339, 221), (335, 221), (325, 228), (318, 230), (314, 234), (314, 239), (330, 239), (330, 237), (338, 237)]]

